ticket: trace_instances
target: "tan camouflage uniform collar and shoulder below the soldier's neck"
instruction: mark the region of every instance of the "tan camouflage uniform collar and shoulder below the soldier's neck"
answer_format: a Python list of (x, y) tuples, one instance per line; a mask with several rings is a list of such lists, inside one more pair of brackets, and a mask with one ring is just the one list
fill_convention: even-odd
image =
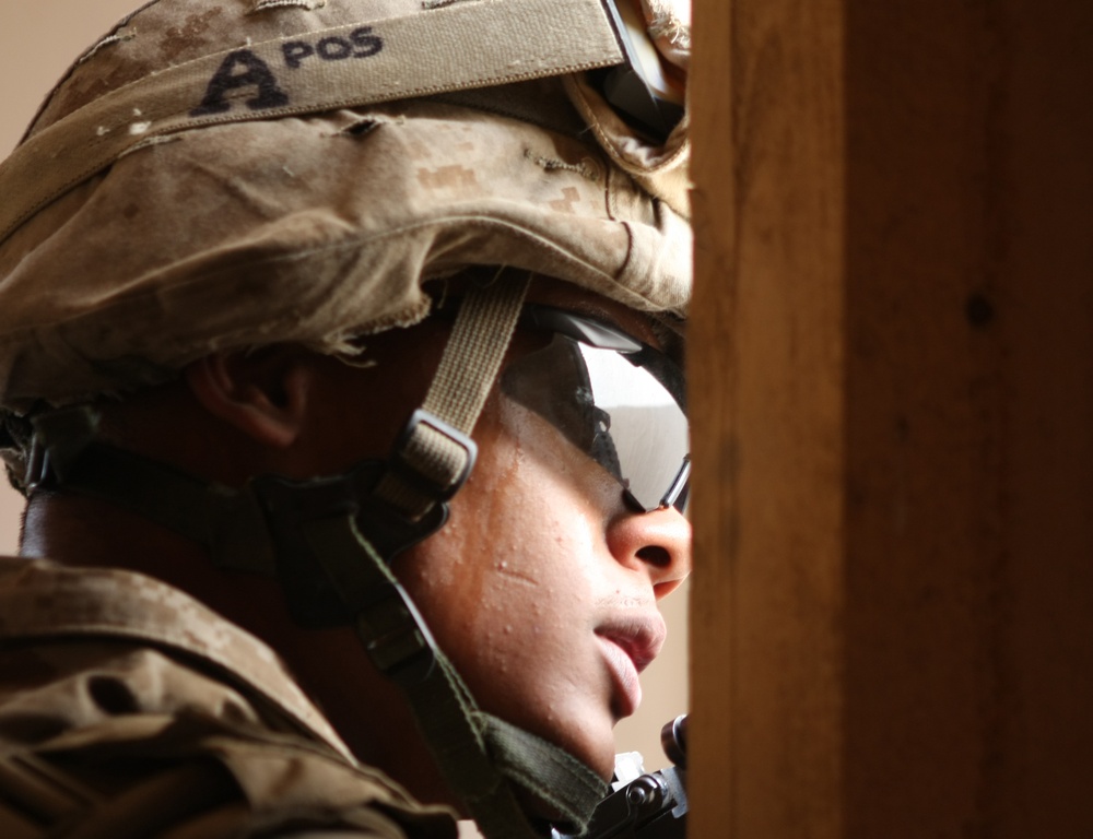
[(0, 836), (447, 839), (261, 641), (141, 575), (0, 559)]

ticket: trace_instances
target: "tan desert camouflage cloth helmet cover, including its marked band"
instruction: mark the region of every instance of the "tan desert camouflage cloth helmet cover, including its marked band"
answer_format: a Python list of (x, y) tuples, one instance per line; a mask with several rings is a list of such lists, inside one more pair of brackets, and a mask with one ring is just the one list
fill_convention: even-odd
[(0, 166), (0, 406), (344, 351), (471, 264), (685, 314), (686, 120), (635, 135), (620, 58), (599, 0), (148, 3)]

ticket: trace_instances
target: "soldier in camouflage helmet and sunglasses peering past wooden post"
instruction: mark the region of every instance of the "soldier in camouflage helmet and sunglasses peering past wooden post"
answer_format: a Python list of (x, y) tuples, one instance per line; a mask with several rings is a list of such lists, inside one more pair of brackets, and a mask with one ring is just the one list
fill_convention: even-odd
[(634, 51), (686, 31), (623, 11), (158, 0), (54, 91), (0, 168), (3, 836), (587, 820), (690, 563)]

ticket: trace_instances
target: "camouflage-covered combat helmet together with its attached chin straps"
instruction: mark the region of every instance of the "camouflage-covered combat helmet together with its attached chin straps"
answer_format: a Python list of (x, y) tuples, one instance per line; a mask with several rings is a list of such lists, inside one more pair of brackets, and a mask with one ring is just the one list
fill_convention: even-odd
[[(685, 55), (685, 28), (651, 5)], [(596, 779), (474, 708), (386, 560), (443, 525), (472, 466), (528, 275), (685, 317), (686, 118), (635, 82), (626, 9), (153, 0), (77, 61), (0, 165), (13, 482), (106, 495), (230, 567), (287, 578), (303, 623), (355, 623), (415, 707), (455, 709), (419, 719), (455, 720), (430, 731), (426, 719), (425, 733), (492, 836), (524, 829), (498, 763), (508, 781), (559, 790), (575, 823), (587, 807), (567, 801), (593, 802)], [(425, 283), (474, 270), (485, 282), (463, 299), (425, 404), (387, 461), (352, 474), (211, 491), (96, 439), (79, 409), (218, 350), (351, 354), (360, 335), (425, 318)], [(122, 480), (104, 487), (103, 469)], [(197, 512), (165, 511), (178, 509)], [(529, 764), (553, 775), (529, 777)]]

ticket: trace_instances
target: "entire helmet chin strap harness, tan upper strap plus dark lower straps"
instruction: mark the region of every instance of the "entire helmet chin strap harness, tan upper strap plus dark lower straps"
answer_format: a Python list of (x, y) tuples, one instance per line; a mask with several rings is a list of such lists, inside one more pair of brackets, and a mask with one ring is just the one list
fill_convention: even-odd
[(490, 839), (549, 835), (514, 785), (578, 832), (607, 784), (565, 751), (481, 711), (391, 572), (399, 552), (447, 520), (474, 464), (471, 430), (512, 340), (528, 281), (506, 276), (462, 300), (422, 407), (387, 461), (340, 475), (252, 478), (238, 491), (96, 439), (86, 407), (35, 421), (28, 477), (104, 498), (204, 545), (220, 566), (275, 575), (297, 623), (352, 624), (399, 684), (451, 790)]

